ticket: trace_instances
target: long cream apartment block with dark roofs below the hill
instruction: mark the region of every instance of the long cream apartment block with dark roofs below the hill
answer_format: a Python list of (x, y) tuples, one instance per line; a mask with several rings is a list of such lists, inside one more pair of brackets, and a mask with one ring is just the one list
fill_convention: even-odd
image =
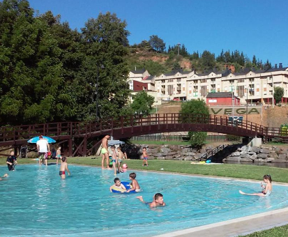
[(269, 70), (241, 69), (240, 72), (213, 70), (197, 73), (195, 70), (183, 72), (174, 70), (154, 77), (157, 100), (206, 100), (209, 92), (234, 92), (241, 103), (262, 102), (270, 104), (273, 100), (274, 86), (284, 88), (282, 102), (288, 102), (288, 67), (275, 65)]

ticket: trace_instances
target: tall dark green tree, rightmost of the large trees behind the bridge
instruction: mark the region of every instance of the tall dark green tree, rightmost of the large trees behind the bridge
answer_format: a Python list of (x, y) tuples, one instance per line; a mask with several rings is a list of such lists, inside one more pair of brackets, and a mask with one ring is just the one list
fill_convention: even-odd
[[(100, 117), (104, 118), (119, 116), (121, 108), (128, 103), (129, 68), (125, 59), (128, 55), (128, 35), (126, 22), (111, 13), (100, 13), (97, 19), (89, 19), (82, 28), (86, 52), (82, 77), (91, 87), (86, 96), (92, 98), (84, 107), (86, 119), (96, 118), (97, 105)], [(105, 68), (99, 69), (102, 64)]]

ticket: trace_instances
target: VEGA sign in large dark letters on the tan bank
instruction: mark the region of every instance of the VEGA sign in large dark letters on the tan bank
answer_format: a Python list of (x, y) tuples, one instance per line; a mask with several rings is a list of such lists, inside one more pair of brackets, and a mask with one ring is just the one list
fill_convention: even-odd
[[(233, 112), (234, 110), (234, 112)], [(261, 114), (262, 107), (248, 107), (248, 114)], [(209, 107), (209, 114), (212, 115), (231, 115), (231, 114), (247, 114), (247, 107), (232, 107), (232, 106), (211, 106)]]

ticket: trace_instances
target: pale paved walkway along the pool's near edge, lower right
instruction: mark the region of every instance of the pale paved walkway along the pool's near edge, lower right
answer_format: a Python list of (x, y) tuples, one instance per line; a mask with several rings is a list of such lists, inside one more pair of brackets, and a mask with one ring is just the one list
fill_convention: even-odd
[(235, 237), (288, 224), (287, 216), (288, 208), (283, 208), (202, 227), (183, 229), (157, 237)]

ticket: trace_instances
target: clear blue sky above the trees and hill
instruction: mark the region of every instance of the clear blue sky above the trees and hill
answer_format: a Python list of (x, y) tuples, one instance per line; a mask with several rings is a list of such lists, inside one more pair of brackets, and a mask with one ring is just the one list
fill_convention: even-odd
[(288, 14), (285, 0), (30, 0), (31, 7), (61, 15), (80, 30), (99, 13), (126, 20), (130, 44), (158, 35), (188, 52), (238, 49), (252, 60), (269, 59), (288, 66)]

